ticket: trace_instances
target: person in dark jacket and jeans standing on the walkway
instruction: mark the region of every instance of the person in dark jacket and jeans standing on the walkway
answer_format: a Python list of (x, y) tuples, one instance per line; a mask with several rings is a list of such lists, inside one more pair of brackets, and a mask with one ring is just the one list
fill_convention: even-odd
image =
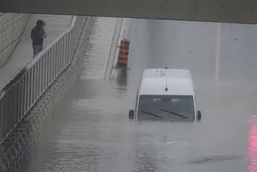
[(43, 50), (44, 37), (46, 38), (47, 36), (44, 30), (45, 26), (46, 24), (44, 21), (38, 20), (36, 21), (36, 26), (31, 30), (30, 37), (32, 40), (33, 58)]

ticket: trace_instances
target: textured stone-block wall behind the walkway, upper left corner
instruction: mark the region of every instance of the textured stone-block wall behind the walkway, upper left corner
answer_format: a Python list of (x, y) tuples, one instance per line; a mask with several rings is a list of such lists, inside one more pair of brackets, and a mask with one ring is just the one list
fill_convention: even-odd
[(0, 67), (10, 58), (31, 14), (0, 13)]

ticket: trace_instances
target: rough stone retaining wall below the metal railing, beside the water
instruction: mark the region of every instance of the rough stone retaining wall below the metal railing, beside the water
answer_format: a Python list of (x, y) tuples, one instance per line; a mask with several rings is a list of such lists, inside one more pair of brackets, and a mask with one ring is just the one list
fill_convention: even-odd
[(80, 71), (83, 69), (83, 60), (88, 37), (91, 32), (95, 17), (88, 17), (79, 40), (80, 49), (76, 51), (70, 65), (59, 75), (51, 86), (45, 91), (40, 100), (31, 109), (24, 120), (15, 128), (14, 133), (8, 138), (0, 151), (0, 171), (15, 171), (23, 156), (30, 150), (39, 133), (51, 119), (54, 110), (62, 98), (74, 87)]

